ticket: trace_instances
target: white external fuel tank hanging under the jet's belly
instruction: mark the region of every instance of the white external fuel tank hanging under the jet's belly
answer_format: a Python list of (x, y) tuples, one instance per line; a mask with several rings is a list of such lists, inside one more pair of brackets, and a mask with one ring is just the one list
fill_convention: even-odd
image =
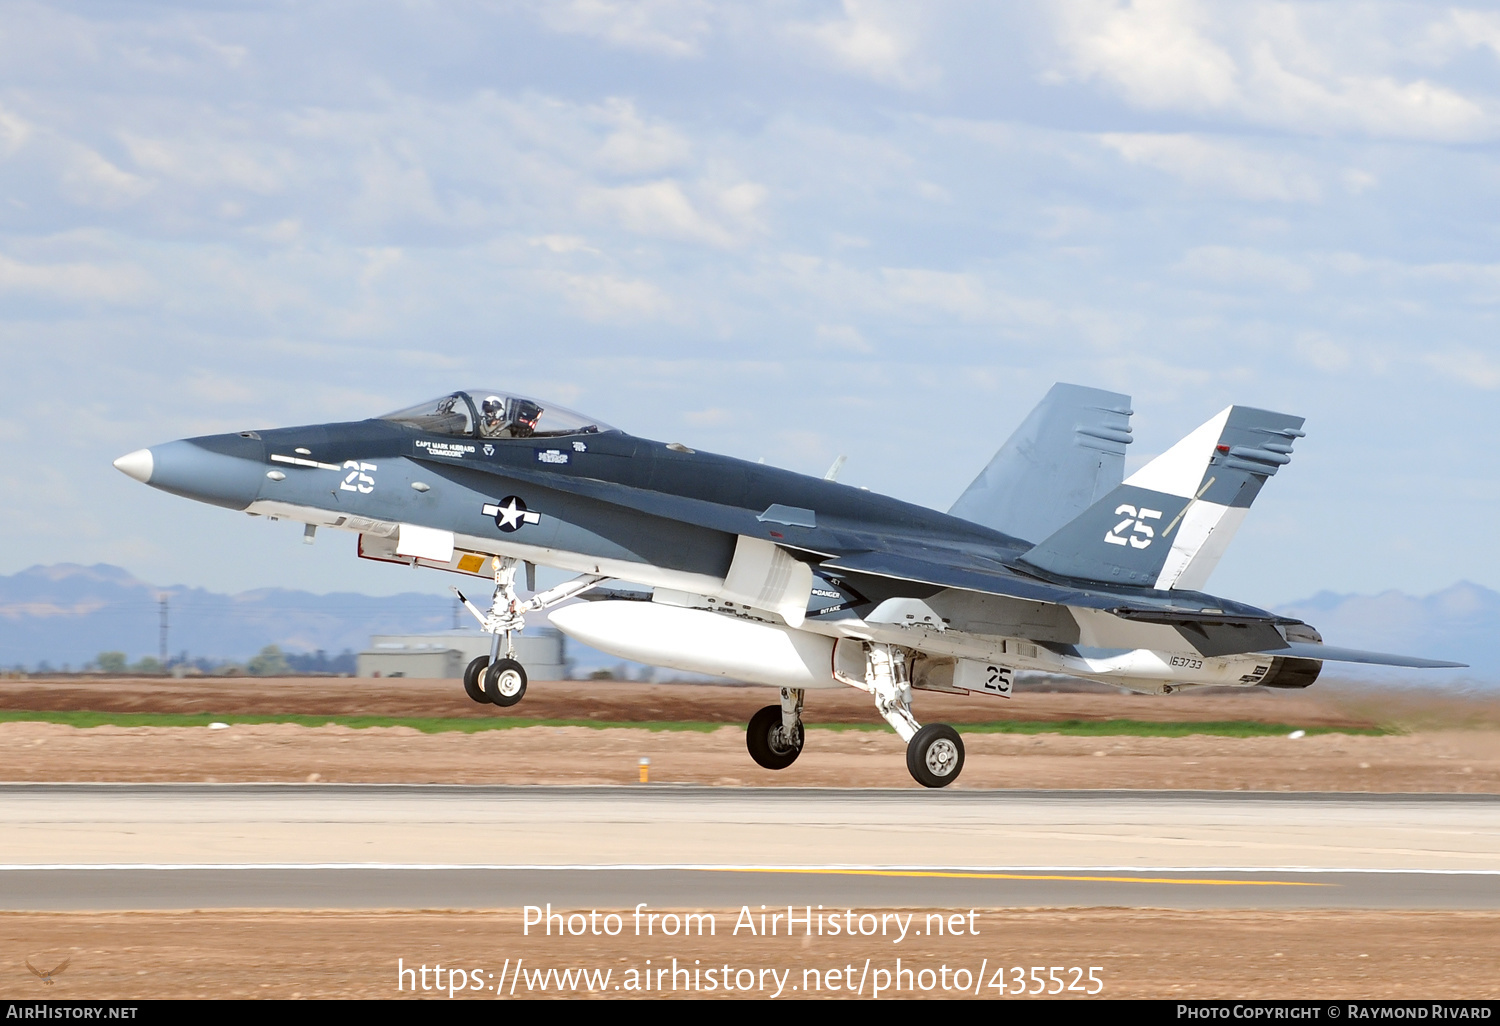
[(834, 640), (778, 624), (654, 602), (580, 602), (548, 614), (568, 638), (610, 656), (774, 687), (844, 687)]

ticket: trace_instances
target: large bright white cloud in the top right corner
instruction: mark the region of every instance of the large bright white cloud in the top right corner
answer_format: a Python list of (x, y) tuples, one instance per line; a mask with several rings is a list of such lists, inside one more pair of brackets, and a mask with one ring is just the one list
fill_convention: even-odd
[(1348, 39), (1378, 27), (1336, 14), (1270, 2), (1226, 10), (1196, 0), (1068, 0), (1058, 14), (1064, 66), (1052, 78), (1100, 81), (1137, 108), (1312, 135), (1494, 138), (1492, 96), (1371, 66), (1371, 52), (1394, 63), (1400, 40)]

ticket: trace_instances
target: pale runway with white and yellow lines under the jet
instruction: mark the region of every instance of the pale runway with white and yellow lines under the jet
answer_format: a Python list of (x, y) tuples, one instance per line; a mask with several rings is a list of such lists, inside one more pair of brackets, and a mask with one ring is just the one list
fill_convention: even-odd
[(1500, 908), (1500, 796), (0, 786), (0, 909)]

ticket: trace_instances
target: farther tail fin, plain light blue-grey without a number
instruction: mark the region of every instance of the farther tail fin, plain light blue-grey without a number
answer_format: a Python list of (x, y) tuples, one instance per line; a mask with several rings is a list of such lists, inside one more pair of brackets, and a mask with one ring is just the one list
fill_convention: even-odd
[(948, 513), (1046, 538), (1125, 477), (1130, 417), (1130, 396), (1054, 384)]

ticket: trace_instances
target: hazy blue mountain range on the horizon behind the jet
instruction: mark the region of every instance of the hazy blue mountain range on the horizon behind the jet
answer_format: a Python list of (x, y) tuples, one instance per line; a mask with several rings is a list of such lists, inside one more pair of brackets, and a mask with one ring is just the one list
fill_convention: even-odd
[[(160, 600), (166, 598), (168, 652), (176, 658), (246, 660), (266, 645), (290, 652), (360, 651), (370, 634), (428, 633), (456, 622), (446, 596), (326, 596), (261, 588), (234, 596), (147, 584), (120, 567), (36, 566), (0, 576), (0, 666), (34, 670), (81, 668), (104, 651), (129, 660), (156, 656)], [(1500, 680), (1500, 592), (1460, 582), (1425, 597), (1400, 591), (1350, 596), (1322, 591), (1275, 612), (1306, 620), (1328, 644), (1466, 662), (1470, 670), (1430, 670), (1434, 682)], [(608, 657), (570, 645), (579, 669)], [(596, 658), (597, 657), (597, 658)], [(608, 662), (604, 662), (608, 660)], [(1330, 670), (1334, 668), (1329, 668)], [(1338, 668), (1353, 676), (1353, 668)], [(1359, 668), (1364, 670), (1364, 668)], [(1442, 680), (1438, 675), (1443, 675)], [(1410, 678), (1410, 672), (1402, 672)]]

